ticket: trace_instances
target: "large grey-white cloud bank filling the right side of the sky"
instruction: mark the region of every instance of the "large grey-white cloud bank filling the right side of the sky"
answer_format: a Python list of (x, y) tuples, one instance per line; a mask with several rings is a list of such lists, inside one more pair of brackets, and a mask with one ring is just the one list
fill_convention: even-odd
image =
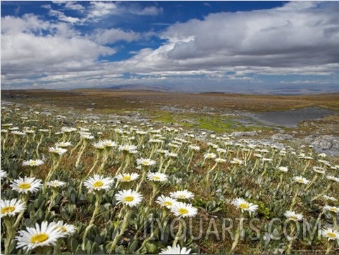
[(135, 60), (142, 67), (177, 70), (249, 66), (302, 73), (339, 62), (337, 15), (332, 3), (299, 1), (271, 10), (213, 13), (168, 27), (161, 35), (168, 43)]

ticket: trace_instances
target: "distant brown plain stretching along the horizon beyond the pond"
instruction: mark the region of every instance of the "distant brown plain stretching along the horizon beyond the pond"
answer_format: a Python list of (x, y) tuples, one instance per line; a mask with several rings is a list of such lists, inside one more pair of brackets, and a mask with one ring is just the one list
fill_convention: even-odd
[[(339, 94), (304, 96), (273, 96), (202, 93), (183, 94), (156, 91), (118, 91), (112, 89), (75, 89), (71, 91), (20, 90), (3, 91), (2, 97), (25, 100), (32, 103), (54, 104), (87, 108), (96, 104), (97, 109), (151, 110), (159, 105), (182, 107), (212, 107), (243, 111), (277, 111), (290, 108), (318, 106), (339, 111)], [(81, 104), (80, 104), (81, 103)]]

